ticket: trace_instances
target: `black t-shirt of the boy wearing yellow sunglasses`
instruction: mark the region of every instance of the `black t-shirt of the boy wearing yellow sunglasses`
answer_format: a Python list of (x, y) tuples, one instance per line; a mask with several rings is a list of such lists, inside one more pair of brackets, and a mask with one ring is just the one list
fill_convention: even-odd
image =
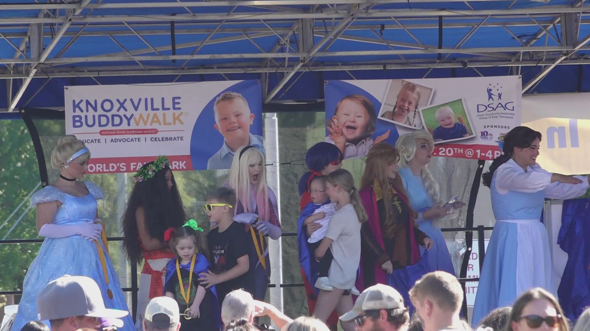
[[(240, 223), (233, 222), (225, 231), (219, 232), (219, 227), (209, 231), (207, 243), (209, 252), (211, 252), (211, 272), (222, 273), (238, 265), (238, 259), (248, 255), (252, 237), (250, 233), (244, 231), (244, 226)], [(253, 267), (250, 266), (250, 269)], [(225, 295), (233, 290), (244, 289), (252, 293), (251, 273), (242, 274), (227, 282), (215, 285), (219, 304), (223, 302)]]

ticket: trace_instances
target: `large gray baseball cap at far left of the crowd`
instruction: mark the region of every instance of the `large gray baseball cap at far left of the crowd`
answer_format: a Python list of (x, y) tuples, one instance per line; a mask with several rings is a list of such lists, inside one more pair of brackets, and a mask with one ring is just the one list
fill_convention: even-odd
[(65, 275), (53, 280), (37, 296), (39, 319), (55, 320), (72, 316), (119, 319), (129, 312), (106, 309), (98, 284), (86, 276)]

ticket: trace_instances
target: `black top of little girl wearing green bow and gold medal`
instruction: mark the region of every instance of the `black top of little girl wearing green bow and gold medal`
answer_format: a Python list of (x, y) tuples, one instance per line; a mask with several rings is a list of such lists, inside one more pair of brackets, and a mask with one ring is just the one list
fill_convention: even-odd
[[(186, 269), (181, 268), (181, 278), (182, 283), (184, 286), (184, 290), (186, 293), (186, 289), (188, 288), (188, 280), (191, 272)], [(199, 276), (198, 274), (192, 275), (192, 282), (191, 282), (191, 292), (189, 294), (188, 304), (186, 304), (186, 300), (181, 294), (181, 290), (178, 283), (178, 275), (176, 271), (174, 272), (174, 276), (170, 277), (168, 283), (166, 283), (164, 289), (166, 292), (174, 293), (174, 299), (178, 302), (178, 307), (183, 313), (187, 307), (189, 307), (194, 301), (196, 296), (196, 286), (198, 284)], [(199, 304), (199, 317), (194, 319), (185, 319), (181, 317), (181, 331), (196, 331), (196, 330), (214, 330), (215, 329), (215, 319), (214, 319), (214, 309), (212, 307), (212, 303), (214, 302), (214, 294), (211, 290), (207, 290), (205, 292), (205, 297), (201, 300), (201, 304)]]

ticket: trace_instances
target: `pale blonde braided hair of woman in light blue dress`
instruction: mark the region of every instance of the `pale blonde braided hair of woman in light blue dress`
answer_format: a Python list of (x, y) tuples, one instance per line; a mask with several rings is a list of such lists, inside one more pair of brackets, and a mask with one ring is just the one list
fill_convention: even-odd
[[(399, 166), (409, 167), (409, 161), (411, 161), (416, 155), (418, 150), (418, 143), (416, 139), (421, 138), (428, 141), (432, 147), (434, 147), (434, 140), (432, 135), (426, 130), (414, 130), (412, 133), (402, 134), (399, 136), (398, 141), (395, 143), (395, 147), (399, 151)], [(441, 201), (440, 192), (438, 191), (438, 184), (432, 177), (427, 167), (423, 167), (420, 171), (422, 181), (424, 181), (424, 187), (428, 191), (428, 195), (432, 198), (434, 203)]]

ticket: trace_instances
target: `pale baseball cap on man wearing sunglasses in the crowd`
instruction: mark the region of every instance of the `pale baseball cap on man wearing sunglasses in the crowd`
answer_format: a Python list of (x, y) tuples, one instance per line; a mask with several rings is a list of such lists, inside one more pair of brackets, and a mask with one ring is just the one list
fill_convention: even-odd
[(367, 287), (358, 299), (350, 312), (340, 316), (340, 319), (348, 322), (355, 319), (367, 310), (398, 309), (405, 308), (404, 298), (391, 286), (376, 284)]

